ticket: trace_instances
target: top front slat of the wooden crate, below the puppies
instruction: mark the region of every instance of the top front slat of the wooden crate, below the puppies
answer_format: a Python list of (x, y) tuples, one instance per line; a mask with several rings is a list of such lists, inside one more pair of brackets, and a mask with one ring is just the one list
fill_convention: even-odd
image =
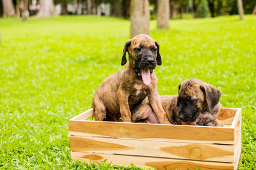
[(70, 135), (234, 145), (234, 128), (69, 120)]

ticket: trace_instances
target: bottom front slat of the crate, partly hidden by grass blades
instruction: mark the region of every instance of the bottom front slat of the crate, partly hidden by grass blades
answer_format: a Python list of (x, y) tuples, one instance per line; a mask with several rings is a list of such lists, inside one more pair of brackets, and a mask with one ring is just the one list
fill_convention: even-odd
[(207, 162), (182, 159), (163, 159), (155, 157), (136, 157), (128, 155), (111, 155), (106, 153), (82, 153), (71, 152), (72, 159), (84, 160), (90, 164), (90, 160), (112, 162), (112, 164), (120, 166), (129, 166), (134, 164), (139, 167), (156, 167), (156, 169), (234, 169), (234, 163)]

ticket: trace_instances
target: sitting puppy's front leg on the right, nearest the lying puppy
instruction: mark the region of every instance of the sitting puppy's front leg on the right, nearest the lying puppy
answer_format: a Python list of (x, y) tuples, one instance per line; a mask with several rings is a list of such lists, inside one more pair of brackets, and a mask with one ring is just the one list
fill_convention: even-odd
[(150, 95), (148, 96), (148, 101), (157, 115), (157, 118), (160, 124), (170, 124), (167, 115), (163, 109), (161, 100), (159, 99), (159, 95), (157, 90), (150, 90)]

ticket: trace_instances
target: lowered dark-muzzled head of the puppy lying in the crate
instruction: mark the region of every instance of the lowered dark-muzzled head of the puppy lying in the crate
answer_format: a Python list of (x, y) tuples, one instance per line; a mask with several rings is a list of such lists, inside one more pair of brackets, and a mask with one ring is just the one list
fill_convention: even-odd
[(195, 122), (199, 113), (213, 108), (220, 101), (221, 92), (212, 85), (196, 78), (183, 81), (179, 85), (177, 118), (182, 122)]

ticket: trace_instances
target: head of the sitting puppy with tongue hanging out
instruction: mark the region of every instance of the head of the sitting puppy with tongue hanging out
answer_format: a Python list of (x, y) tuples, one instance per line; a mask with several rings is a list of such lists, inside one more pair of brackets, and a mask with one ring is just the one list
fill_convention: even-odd
[[(134, 72), (143, 78), (150, 77), (156, 65), (161, 65), (159, 44), (150, 36), (140, 34), (128, 39), (125, 43), (121, 65), (127, 62), (126, 52), (129, 54), (129, 63)], [(144, 80), (143, 80), (144, 81)]]

